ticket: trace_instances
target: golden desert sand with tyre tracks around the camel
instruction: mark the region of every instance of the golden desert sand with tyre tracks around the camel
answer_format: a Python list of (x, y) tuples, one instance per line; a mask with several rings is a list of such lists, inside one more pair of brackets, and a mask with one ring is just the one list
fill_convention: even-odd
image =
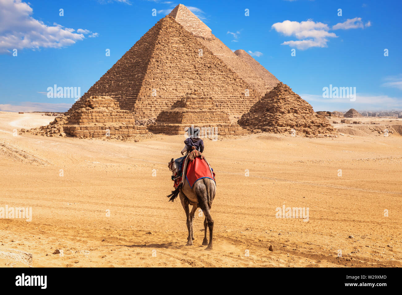
[[(402, 266), (398, 134), (363, 126), (362, 136), (205, 140), (217, 179), (214, 249), (205, 251), (202, 212), (195, 215), (194, 246), (185, 246), (185, 212), (166, 198), (167, 162), (180, 155), (183, 136), (13, 136), (15, 128), (52, 120), (0, 113), (0, 208), (32, 208), (30, 222), (0, 220), (1, 267)], [(283, 205), (308, 208), (308, 221), (277, 218)]]

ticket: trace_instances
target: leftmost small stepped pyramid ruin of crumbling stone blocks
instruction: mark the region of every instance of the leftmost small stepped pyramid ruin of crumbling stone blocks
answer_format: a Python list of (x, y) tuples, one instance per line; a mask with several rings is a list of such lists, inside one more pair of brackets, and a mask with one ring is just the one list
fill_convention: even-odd
[(136, 126), (133, 113), (121, 110), (119, 102), (108, 96), (90, 96), (82, 102), (85, 106), (67, 118), (64, 132), (75, 137), (101, 137), (146, 134), (145, 126)]

